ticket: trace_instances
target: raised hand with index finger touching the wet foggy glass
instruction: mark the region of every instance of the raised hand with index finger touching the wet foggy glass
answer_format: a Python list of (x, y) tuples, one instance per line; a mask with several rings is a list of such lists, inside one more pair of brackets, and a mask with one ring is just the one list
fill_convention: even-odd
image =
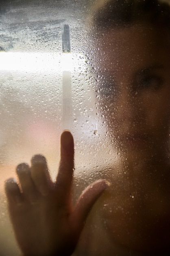
[(9, 213), (18, 244), (26, 256), (70, 256), (85, 219), (107, 188), (104, 180), (91, 184), (72, 205), (74, 142), (70, 132), (61, 135), (61, 161), (56, 182), (48, 173), (46, 159), (36, 155), (17, 166), (20, 186), (6, 182)]

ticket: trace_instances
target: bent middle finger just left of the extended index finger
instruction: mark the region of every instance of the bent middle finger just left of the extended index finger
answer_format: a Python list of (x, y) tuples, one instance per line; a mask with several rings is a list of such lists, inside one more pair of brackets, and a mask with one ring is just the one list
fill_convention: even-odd
[(48, 195), (52, 181), (44, 156), (35, 155), (31, 159), (31, 177), (41, 195)]

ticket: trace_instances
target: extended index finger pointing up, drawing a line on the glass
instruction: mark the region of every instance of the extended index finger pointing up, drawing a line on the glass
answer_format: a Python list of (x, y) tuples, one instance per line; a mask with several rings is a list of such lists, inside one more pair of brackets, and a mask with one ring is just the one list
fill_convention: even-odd
[(70, 131), (61, 134), (61, 160), (57, 175), (56, 188), (63, 202), (68, 200), (74, 171), (74, 140)]

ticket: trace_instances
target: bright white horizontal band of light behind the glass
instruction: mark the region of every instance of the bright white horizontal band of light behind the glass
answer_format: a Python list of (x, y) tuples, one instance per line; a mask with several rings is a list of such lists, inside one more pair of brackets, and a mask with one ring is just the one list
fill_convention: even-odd
[(0, 52), (0, 70), (61, 73), (83, 68), (82, 54)]

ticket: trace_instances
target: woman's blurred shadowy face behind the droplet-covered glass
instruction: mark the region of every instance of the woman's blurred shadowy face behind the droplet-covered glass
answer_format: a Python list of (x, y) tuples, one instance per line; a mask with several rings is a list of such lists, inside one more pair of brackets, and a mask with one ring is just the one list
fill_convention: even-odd
[(146, 25), (96, 40), (100, 111), (113, 143), (134, 156), (163, 150), (169, 137), (170, 48), (161, 40)]

